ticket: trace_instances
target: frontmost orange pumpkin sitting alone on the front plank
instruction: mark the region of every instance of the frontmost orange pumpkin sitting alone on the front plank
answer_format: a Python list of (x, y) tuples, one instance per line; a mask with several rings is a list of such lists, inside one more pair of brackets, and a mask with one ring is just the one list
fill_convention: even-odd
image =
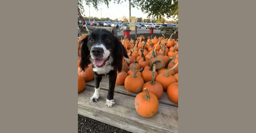
[(156, 114), (159, 106), (157, 97), (148, 92), (147, 88), (143, 89), (134, 99), (136, 112), (142, 117), (152, 117)]

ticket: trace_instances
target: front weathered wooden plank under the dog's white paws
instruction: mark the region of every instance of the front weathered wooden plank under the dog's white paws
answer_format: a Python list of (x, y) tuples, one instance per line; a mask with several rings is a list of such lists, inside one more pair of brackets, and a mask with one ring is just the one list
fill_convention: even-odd
[(86, 86), (85, 90), (78, 94), (78, 114), (133, 133), (178, 132), (177, 107), (159, 103), (157, 113), (150, 118), (144, 118), (135, 110), (135, 97), (114, 93), (116, 104), (107, 107), (105, 105), (107, 91), (101, 90), (99, 100), (90, 102), (89, 99), (93, 93), (94, 88)]

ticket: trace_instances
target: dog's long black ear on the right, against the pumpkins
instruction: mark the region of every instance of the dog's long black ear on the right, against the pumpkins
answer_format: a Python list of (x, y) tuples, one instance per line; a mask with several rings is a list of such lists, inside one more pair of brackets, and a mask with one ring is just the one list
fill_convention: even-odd
[(122, 70), (122, 61), (123, 57), (128, 57), (127, 51), (120, 42), (120, 40), (115, 37), (114, 40), (115, 43), (115, 51), (114, 51), (114, 65), (117, 68), (117, 70), (120, 72)]

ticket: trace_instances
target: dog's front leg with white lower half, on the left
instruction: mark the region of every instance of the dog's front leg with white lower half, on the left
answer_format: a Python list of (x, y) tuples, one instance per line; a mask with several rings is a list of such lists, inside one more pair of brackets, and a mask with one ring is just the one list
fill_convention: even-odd
[(94, 101), (98, 101), (99, 97), (100, 97), (100, 82), (102, 79), (102, 75), (97, 74), (96, 72), (94, 73), (94, 80), (95, 80), (95, 90), (94, 90), (94, 94), (91, 97), (90, 101), (94, 102)]

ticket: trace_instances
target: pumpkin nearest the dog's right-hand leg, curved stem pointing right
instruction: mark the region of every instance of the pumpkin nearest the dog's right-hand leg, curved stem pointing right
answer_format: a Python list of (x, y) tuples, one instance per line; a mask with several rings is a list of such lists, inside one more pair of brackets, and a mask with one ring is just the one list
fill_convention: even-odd
[(136, 70), (133, 74), (128, 75), (124, 80), (124, 87), (129, 92), (138, 93), (141, 91), (142, 86), (144, 84), (143, 78), (139, 75), (136, 75), (141, 69)]

